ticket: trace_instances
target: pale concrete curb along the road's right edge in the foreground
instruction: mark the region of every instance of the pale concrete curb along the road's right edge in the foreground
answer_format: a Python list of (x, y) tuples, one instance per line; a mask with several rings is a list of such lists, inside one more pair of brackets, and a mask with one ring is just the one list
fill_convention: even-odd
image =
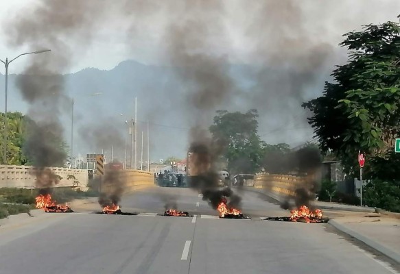
[(356, 238), (357, 240), (364, 242), (364, 244), (383, 253), (385, 256), (391, 258), (392, 260), (395, 260), (395, 262), (400, 264), (400, 253), (397, 253), (396, 251), (390, 249), (389, 247), (379, 244), (379, 242), (376, 242), (375, 240), (371, 240), (367, 236), (355, 232), (353, 229), (346, 227), (346, 225), (342, 225), (341, 223), (338, 223), (335, 220), (329, 220), (328, 223), (329, 225), (332, 225), (336, 229), (339, 229), (341, 232), (344, 232), (345, 234), (348, 234)]

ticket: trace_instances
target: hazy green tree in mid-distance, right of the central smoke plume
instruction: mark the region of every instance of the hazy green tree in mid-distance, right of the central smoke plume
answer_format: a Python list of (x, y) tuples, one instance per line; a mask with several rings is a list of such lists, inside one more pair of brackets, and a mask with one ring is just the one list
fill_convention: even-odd
[(218, 110), (210, 132), (215, 143), (224, 147), (222, 157), (231, 174), (254, 173), (260, 168), (266, 143), (260, 140), (257, 110), (228, 112)]

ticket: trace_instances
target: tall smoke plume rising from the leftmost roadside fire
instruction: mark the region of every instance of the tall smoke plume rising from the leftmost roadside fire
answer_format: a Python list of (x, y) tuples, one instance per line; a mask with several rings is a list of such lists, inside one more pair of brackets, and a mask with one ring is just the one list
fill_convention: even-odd
[[(47, 174), (45, 166), (63, 166), (66, 147), (61, 122), (62, 112), (71, 110), (71, 99), (65, 95), (64, 77), (76, 57), (64, 42), (75, 38), (85, 45), (91, 39), (92, 12), (87, 12), (86, 1), (38, 1), (23, 16), (5, 23), (8, 42), (12, 47), (24, 47), (31, 51), (51, 49), (54, 53), (40, 53), (27, 58), (25, 71), (16, 77), (16, 86), (28, 103), (27, 140), (24, 151), (38, 167), (38, 187), (54, 185), (54, 175)], [(82, 27), (84, 25), (85, 27)], [(82, 49), (80, 49), (82, 50)], [(46, 172), (38, 172), (46, 171)]]

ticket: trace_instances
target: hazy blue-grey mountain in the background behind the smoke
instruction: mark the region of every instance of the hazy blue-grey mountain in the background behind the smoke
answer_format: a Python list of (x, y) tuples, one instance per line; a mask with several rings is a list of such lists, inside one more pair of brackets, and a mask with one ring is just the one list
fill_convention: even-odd
[[(260, 71), (262, 70), (252, 66), (232, 65), (229, 74), (235, 79), (236, 90), (233, 90), (233, 98), (227, 99), (220, 109), (245, 111), (257, 108), (260, 112), (260, 135), (266, 136), (268, 142), (290, 142), (296, 145), (302, 140), (309, 139), (312, 134), (307, 128), (304, 111), (300, 107), (302, 98), (286, 98), (284, 94), (279, 96), (275, 90), (268, 90), (268, 85), (266, 88), (257, 86), (263, 77), (261, 75), (260, 78)], [(266, 77), (268, 75), (275, 77), (274, 75), (283, 72), (270, 69), (263, 73), (266, 73)], [(11, 111), (26, 112), (27, 103), (23, 101), (19, 90), (16, 89), (15, 77), (16, 75), (9, 76), (8, 107)], [(322, 88), (318, 86), (322, 87), (324, 77), (311, 87), (311, 95), (320, 94)], [(141, 131), (146, 132), (145, 123), (142, 122), (148, 120), (150, 121), (151, 159), (158, 160), (170, 155), (178, 158), (185, 157), (191, 113), (185, 96), (187, 91), (176, 75), (176, 68), (145, 65), (134, 60), (127, 60), (109, 71), (88, 68), (64, 75), (64, 79), (65, 94), (75, 100), (74, 154), (84, 155), (99, 152), (102, 149), (110, 153), (111, 145), (113, 145), (114, 155), (124, 160), (125, 138), (128, 144), (130, 143), (130, 137), (126, 134), (128, 127), (125, 121), (134, 116), (134, 97), (137, 97), (137, 113), (140, 122), (138, 123), (138, 159), (140, 159)], [(4, 75), (0, 75), (0, 87), (3, 86)], [(314, 91), (312, 91), (313, 88)], [(3, 89), (0, 88), (0, 90)], [(101, 95), (93, 95), (99, 93)], [(3, 92), (0, 93), (0, 105), (3, 105), (1, 95)], [(62, 108), (64, 134), (68, 143), (71, 127), (70, 111), (68, 108)], [(303, 129), (290, 132), (292, 130), (290, 127), (298, 127), (297, 123), (302, 123)], [(280, 128), (288, 128), (289, 132), (282, 131)], [(144, 158), (146, 157), (145, 155)], [(129, 153), (128, 158), (130, 158)]]

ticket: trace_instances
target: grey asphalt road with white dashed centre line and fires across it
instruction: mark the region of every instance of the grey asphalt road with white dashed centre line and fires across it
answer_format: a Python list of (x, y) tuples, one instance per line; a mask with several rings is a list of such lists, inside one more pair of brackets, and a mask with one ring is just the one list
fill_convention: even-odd
[[(95, 214), (93, 204), (4, 225), (0, 273), (397, 273), (327, 224), (263, 221), (288, 212), (241, 195), (251, 220), (218, 219), (187, 188), (156, 188), (123, 197), (123, 211), (137, 216)], [(174, 201), (196, 216), (156, 216)]]

